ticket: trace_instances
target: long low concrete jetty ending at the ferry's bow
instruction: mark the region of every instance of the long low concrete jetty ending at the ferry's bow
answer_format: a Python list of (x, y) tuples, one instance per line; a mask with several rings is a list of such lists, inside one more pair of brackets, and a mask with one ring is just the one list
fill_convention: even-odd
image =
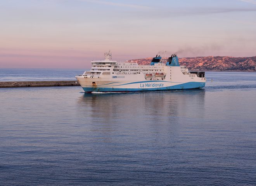
[(36, 86), (79, 86), (78, 81), (0, 81), (0, 88)]

